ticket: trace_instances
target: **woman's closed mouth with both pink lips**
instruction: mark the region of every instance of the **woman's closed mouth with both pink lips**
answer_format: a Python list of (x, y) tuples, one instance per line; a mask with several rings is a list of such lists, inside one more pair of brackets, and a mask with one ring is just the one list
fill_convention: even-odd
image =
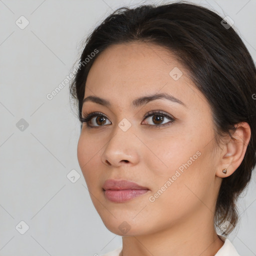
[(108, 179), (103, 184), (105, 197), (112, 202), (124, 202), (149, 191), (149, 188), (128, 180)]

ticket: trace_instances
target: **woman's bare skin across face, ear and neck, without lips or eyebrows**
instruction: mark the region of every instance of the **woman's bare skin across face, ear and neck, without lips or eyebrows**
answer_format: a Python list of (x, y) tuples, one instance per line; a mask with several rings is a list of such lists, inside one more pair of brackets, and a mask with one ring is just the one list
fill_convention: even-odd
[[(178, 67), (174, 80), (169, 72)], [(139, 96), (166, 92), (186, 106), (156, 99), (132, 107)], [(216, 146), (212, 112), (204, 95), (188, 78), (185, 68), (160, 46), (145, 42), (111, 45), (95, 59), (86, 80), (84, 98), (94, 95), (110, 101), (107, 107), (86, 101), (82, 113), (98, 111), (83, 123), (77, 158), (91, 200), (105, 226), (122, 236), (123, 256), (214, 255), (223, 245), (213, 225), (213, 213), (222, 178), (240, 165), (250, 138), (245, 122), (237, 125)], [(175, 120), (154, 121), (161, 110)], [(118, 123), (126, 118), (131, 126), (123, 131)], [(151, 124), (151, 125), (150, 125)], [(100, 126), (101, 125), (101, 126)], [(201, 154), (184, 168), (165, 191), (149, 201), (169, 177), (190, 157)], [(227, 168), (227, 174), (222, 172)], [(149, 189), (146, 194), (116, 203), (107, 200), (102, 185), (106, 179), (127, 179)], [(118, 226), (130, 228), (123, 232)]]

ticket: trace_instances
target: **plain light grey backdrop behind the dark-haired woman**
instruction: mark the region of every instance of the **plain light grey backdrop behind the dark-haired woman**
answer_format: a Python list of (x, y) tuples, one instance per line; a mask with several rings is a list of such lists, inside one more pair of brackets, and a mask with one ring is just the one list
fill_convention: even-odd
[[(78, 165), (80, 125), (68, 84), (52, 99), (46, 95), (70, 73), (82, 40), (114, 9), (167, 2), (0, 0), (0, 255), (89, 256), (121, 245), (97, 214)], [(230, 16), (256, 59), (255, 0), (191, 2)], [(67, 178), (71, 170), (75, 182)], [(254, 172), (229, 235), (242, 256), (256, 255), (255, 183)]]

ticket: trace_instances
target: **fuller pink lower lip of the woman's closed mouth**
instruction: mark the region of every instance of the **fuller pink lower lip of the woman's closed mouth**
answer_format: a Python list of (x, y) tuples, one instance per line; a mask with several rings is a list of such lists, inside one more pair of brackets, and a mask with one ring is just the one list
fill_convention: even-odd
[(148, 189), (104, 190), (106, 198), (112, 202), (124, 202), (149, 191)]

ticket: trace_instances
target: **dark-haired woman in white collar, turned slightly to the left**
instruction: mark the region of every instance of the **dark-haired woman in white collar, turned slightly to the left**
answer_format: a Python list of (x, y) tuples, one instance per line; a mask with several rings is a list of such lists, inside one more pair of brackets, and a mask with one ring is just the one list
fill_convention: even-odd
[(238, 255), (224, 235), (255, 166), (256, 71), (231, 25), (194, 4), (141, 5), (86, 40), (70, 93), (91, 200), (122, 236), (106, 255)]

